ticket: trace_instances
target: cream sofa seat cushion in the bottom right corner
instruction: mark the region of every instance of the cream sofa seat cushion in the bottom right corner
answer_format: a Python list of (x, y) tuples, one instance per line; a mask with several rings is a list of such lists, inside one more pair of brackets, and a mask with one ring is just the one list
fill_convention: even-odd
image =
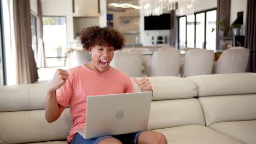
[(243, 143), (256, 143), (256, 120), (214, 123), (210, 128)]

